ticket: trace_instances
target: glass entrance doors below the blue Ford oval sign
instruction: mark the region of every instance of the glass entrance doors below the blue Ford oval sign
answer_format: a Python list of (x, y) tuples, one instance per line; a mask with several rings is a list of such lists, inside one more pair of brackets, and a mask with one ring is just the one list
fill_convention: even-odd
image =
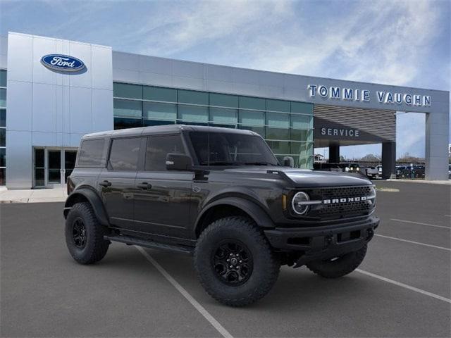
[(33, 149), (33, 187), (53, 188), (65, 184), (76, 158), (76, 149)]

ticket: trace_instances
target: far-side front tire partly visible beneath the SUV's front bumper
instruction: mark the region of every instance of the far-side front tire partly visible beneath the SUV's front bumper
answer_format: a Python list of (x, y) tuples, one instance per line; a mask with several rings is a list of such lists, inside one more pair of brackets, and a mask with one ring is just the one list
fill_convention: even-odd
[(338, 278), (352, 273), (362, 263), (366, 254), (366, 244), (357, 251), (345, 253), (345, 255), (333, 260), (314, 261), (307, 263), (307, 268), (325, 278)]

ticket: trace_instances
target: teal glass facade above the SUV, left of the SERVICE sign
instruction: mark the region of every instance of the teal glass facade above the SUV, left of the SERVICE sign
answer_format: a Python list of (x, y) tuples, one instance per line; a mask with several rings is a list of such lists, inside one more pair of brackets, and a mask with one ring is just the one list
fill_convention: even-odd
[(211, 125), (261, 134), (280, 163), (313, 168), (313, 104), (114, 82), (114, 128)]

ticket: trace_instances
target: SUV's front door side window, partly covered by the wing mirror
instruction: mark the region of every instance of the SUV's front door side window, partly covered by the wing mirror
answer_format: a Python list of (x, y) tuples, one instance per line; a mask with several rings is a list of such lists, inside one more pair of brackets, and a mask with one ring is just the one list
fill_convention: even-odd
[(145, 170), (166, 170), (166, 155), (169, 153), (185, 154), (180, 135), (148, 137)]

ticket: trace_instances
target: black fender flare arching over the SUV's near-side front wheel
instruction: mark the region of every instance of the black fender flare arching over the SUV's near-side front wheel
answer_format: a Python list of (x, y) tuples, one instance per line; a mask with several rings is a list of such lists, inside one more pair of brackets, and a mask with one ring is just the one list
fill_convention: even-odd
[(206, 208), (204, 208), (204, 210), (202, 210), (202, 213), (197, 216), (197, 220), (194, 226), (194, 233), (197, 233), (199, 226), (202, 225), (201, 220), (202, 218), (204, 218), (204, 215), (206, 215), (206, 213), (208, 213), (211, 208), (220, 205), (235, 206), (236, 208), (240, 208), (242, 211), (247, 213), (247, 215), (249, 215), (249, 217), (252, 218), (252, 220), (254, 220), (254, 222), (257, 223), (259, 227), (275, 227), (273, 220), (271, 220), (268, 213), (266, 213), (266, 211), (264, 211), (264, 209), (261, 208), (261, 206), (259, 206), (257, 203), (249, 201), (248, 199), (244, 199), (242, 197), (229, 196), (211, 202), (210, 204), (208, 204), (208, 206), (206, 206)]

